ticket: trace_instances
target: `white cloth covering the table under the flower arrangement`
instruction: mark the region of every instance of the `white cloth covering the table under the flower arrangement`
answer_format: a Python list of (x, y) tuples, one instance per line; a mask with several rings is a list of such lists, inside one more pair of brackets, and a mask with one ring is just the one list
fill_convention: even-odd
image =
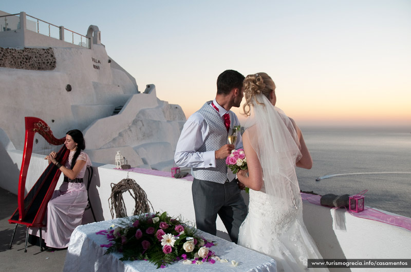
[[(91, 223), (78, 226), (71, 235), (64, 262), (63, 272), (72, 271), (98, 271), (98, 272), (136, 272), (136, 271), (262, 271), (276, 272), (275, 260), (256, 251), (228, 242), (227, 240), (201, 232), (207, 240), (216, 241), (217, 245), (210, 249), (221, 259), (227, 259), (227, 263), (183, 264), (172, 263), (165, 268), (156, 269), (156, 265), (148, 261), (120, 261), (122, 257), (118, 252), (104, 255), (108, 240), (105, 235), (97, 235), (96, 232), (108, 229), (111, 224), (119, 222), (119, 219)], [(231, 261), (238, 262), (234, 267)]]

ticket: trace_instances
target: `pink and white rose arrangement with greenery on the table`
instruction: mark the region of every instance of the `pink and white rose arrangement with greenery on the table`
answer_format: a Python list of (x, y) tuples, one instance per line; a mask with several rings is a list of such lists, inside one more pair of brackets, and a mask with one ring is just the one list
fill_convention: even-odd
[(109, 240), (109, 244), (101, 245), (108, 247), (105, 254), (118, 251), (123, 254), (121, 261), (148, 260), (157, 268), (180, 260), (184, 263), (218, 260), (210, 250), (213, 242), (197, 236), (195, 228), (167, 216), (166, 212), (143, 214), (128, 221), (123, 227), (112, 225), (108, 230), (96, 232)]

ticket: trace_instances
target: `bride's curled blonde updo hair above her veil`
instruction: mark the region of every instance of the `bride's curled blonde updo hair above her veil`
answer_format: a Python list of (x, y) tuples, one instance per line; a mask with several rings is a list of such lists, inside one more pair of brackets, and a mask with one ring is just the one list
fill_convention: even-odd
[(253, 98), (259, 105), (263, 103), (259, 102), (255, 97), (257, 94), (263, 94), (268, 100), (270, 100), (270, 93), (275, 89), (274, 81), (266, 73), (249, 74), (244, 80), (244, 97), (246, 98), (246, 104), (242, 107), (245, 115), (250, 115), (250, 108), (253, 104)]

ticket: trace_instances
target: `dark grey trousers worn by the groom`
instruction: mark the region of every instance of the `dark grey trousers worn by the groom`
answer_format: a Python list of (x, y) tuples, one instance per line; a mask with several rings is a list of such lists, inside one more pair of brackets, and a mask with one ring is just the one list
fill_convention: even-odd
[(194, 178), (191, 190), (197, 228), (216, 235), (218, 214), (231, 241), (237, 243), (240, 225), (247, 216), (247, 206), (236, 180), (221, 184)]

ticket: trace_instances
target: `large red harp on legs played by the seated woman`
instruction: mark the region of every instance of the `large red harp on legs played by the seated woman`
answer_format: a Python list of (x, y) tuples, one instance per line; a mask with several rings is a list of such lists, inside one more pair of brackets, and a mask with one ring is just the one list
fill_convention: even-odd
[[(50, 127), (41, 119), (35, 117), (25, 117), (26, 125), (26, 135), (25, 144), (23, 150), (23, 160), (20, 169), (20, 177), (18, 178), (18, 192), (17, 192), (17, 209), (9, 219), (9, 223), (15, 223), (15, 228), (13, 231), (13, 237), (11, 239), (10, 248), (13, 243), (15, 231), (18, 224), (26, 225), (26, 245), (25, 252), (27, 252), (27, 240), (28, 240), (28, 229), (30, 227), (40, 228), (40, 245), (41, 250), (43, 250), (41, 228), (45, 225), (43, 224), (43, 219), (47, 209), (47, 203), (53, 195), (53, 191), (57, 182), (59, 180), (61, 171), (54, 164), (49, 164), (46, 169), (41, 174), (40, 178), (37, 179), (35, 172), (32, 170), (35, 162), (30, 163), (30, 159), (33, 156), (41, 156), (44, 158), (45, 154), (48, 154), (52, 149), (59, 145), (63, 145), (65, 138), (57, 139), (53, 136)], [(34, 145), (39, 145), (39, 140), (41, 140), (49, 148), (43, 147), (41, 151), (33, 151)], [(34, 155), (35, 154), (35, 155)], [(61, 164), (65, 164), (67, 161), (69, 150), (63, 145), (60, 151), (57, 153), (57, 161)], [(41, 161), (41, 160), (35, 160)], [(42, 162), (44, 169), (44, 162)], [(39, 171), (38, 171), (39, 172)], [(38, 173), (37, 172), (37, 173)], [(26, 184), (26, 181), (33, 180), (32, 184)], [(35, 181), (35, 179), (37, 179)], [(32, 187), (31, 187), (32, 185)], [(28, 190), (27, 195), (25, 194), (26, 188), (31, 188)]]

